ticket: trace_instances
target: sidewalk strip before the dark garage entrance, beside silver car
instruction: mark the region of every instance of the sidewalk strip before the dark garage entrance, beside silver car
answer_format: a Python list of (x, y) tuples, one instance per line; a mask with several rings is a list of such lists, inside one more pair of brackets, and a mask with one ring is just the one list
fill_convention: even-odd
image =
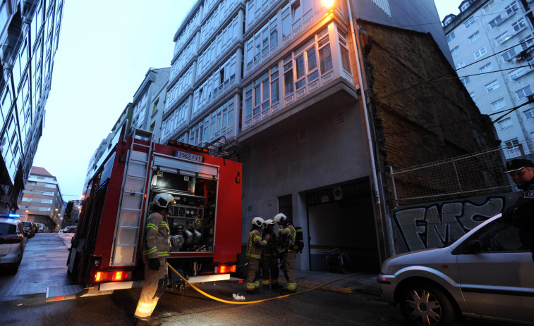
[[(359, 292), (380, 296), (380, 287), (377, 283), (376, 274), (336, 274), (331, 272), (310, 272), (306, 270), (296, 270), (297, 288), (317, 287), (318, 285), (336, 280), (322, 287), (325, 291), (334, 291), (341, 293)], [(348, 276), (353, 275), (353, 276)], [(346, 277), (348, 276), (348, 277)], [(345, 277), (342, 280), (338, 280)], [(283, 279), (283, 277), (281, 277)], [(284, 282), (283, 280), (282, 282)]]

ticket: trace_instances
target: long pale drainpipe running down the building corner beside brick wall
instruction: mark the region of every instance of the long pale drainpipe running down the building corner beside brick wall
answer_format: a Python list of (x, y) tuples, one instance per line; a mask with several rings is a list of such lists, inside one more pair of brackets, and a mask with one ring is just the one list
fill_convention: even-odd
[[(377, 232), (377, 242), (378, 242), (378, 254), (380, 258), (380, 265), (382, 265), (382, 262), (386, 260), (387, 257), (392, 256), (392, 253), (394, 252), (392, 248), (389, 248), (388, 241), (384, 234), (387, 234), (385, 227), (384, 227), (384, 218), (387, 217), (387, 214), (385, 214), (384, 209), (384, 201), (381, 199), (383, 198), (383, 189), (382, 189), (382, 178), (380, 176), (380, 173), (377, 171), (377, 164), (375, 161), (375, 146), (373, 144), (372, 140), (372, 132), (370, 127), (370, 118), (368, 113), (368, 102), (367, 102), (367, 96), (365, 95), (365, 80), (363, 78), (363, 69), (362, 64), (360, 63), (360, 58), (363, 60), (363, 56), (360, 54), (360, 35), (358, 34), (358, 30), (354, 27), (353, 18), (352, 18), (352, 11), (351, 11), (351, 4), (350, 0), (347, 1), (347, 9), (348, 9), (348, 18), (351, 23), (351, 36), (354, 44), (354, 51), (356, 54), (356, 66), (358, 70), (358, 78), (360, 79), (360, 93), (362, 97), (362, 103), (363, 103), (363, 114), (364, 114), (364, 122), (365, 122), (365, 132), (367, 134), (367, 142), (369, 146), (369, 152), (370, 152), (370, 163), (371, 163), (371, 169), (372, 169), (372, 182), (373, 182), (373, 188), (375, 193), (374, 195), (374, 211), (375, 211), (375, 229)], [(365, 85), (366, 86), (366, 85)]]

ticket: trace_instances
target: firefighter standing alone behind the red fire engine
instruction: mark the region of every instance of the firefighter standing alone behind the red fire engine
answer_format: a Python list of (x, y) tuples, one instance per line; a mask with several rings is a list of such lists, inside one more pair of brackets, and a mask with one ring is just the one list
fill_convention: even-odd
[(143, 242), (142, 261), (145, 262), (145, 284), (142, 286), (138, 306), (134, 317), (137, 325), (162, 325), (162, 322), (152, 317), (157, 301), (162, 296), (169, 275), (167, 275), (167, 261), (171, 251), (169, 239), (169, 223), (166, 215), (171, 212), (174, 196), (171, 194), (157, 194), (152, 201), (152, 213), (147, 218), (145, 242)]

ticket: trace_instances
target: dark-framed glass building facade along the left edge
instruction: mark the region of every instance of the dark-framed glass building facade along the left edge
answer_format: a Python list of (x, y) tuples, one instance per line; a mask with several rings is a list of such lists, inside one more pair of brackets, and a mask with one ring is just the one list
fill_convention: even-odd
[(0, 211), (18, 209), (44, 127), (63, 0), (0, 2)]

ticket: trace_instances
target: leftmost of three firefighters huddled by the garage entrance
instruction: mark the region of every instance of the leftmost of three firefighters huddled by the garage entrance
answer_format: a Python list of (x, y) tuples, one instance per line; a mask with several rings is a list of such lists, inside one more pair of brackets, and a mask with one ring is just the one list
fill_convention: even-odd
[(248, 274), (247, 274), (247, 293), (257, 294), (260, 288), (260, 281), (257, 279), (260, 277), (260, 258), (262, 258), (262, 249), (269, 241), (269, 234), (265, 235), (262, 239), (260, 229), (265, 221), (262, 218), (253, 218), (252, 230), (248, 234), (247, 242), (247, 261), (248, 261)]

